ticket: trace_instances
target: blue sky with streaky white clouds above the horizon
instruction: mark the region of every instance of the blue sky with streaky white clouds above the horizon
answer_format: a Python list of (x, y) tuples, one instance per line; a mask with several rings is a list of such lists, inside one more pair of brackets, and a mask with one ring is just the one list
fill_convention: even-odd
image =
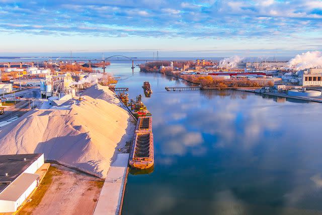
[(0, 55), (294, 56), (322, 50), (322, 0), (0, 0)]

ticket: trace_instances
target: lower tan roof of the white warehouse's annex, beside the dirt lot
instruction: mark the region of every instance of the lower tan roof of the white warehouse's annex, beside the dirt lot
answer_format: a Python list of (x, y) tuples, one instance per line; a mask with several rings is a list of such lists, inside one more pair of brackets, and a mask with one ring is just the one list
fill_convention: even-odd
[(17, 201), (20, 196), (39, 178), (37, 174), (23, 173), (0, 193), (0, 200)]

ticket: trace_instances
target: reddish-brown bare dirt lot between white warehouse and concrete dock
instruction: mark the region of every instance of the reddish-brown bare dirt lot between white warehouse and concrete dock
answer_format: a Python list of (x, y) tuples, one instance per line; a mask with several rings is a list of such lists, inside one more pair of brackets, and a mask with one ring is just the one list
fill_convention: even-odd
[(18, 214), (93, 214), (104, 181), (52, 164)]

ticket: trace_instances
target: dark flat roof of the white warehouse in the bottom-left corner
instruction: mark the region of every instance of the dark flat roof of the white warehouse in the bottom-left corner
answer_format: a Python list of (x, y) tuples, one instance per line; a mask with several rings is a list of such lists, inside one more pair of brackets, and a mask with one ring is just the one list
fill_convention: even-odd
[[(18, 176), (41, 155), (42, 154), (0, 155), (0, 192), (18, 178)], [(7, 176), (6, 173), (8, 173)]]

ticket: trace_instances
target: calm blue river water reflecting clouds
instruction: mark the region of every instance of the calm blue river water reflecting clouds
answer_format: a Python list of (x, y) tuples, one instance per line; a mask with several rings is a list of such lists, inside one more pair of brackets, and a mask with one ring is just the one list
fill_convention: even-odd
[[(320, 214), (321, 104), (184, 86), (129, 64), (108, 70), (153, 116), (154, 170), (129, 175), (123, 214)], [(144, 96), (143, 96), (144, 97)]]

